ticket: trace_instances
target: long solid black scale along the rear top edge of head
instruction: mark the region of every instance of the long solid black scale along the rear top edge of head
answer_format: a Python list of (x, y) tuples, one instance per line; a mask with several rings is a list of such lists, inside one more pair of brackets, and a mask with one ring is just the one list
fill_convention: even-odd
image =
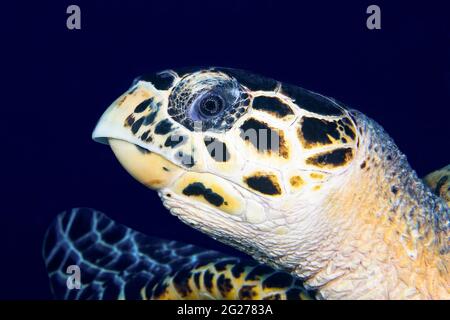
[(343, 114), (342, 110), (337, 106), (337, 103), (309, 90), (289, 84), (283, 84), (282, 91), (287, 96), (294, 99), (294, 102), (300, 108), (307, 111), (324, 116), (340, 116)]

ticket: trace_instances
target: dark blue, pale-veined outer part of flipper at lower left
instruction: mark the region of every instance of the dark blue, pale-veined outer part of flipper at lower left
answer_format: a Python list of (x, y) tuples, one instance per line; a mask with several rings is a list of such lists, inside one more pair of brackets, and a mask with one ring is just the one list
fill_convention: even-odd
[[(99, 211), (81, 208), (57, 216), (47, 231), (43, 256), (57, 299), (151, 299), (162, 278), (224, 255), (148, 237)], [(79, 267), (80, 289), (68, 288), (69, 266)]]

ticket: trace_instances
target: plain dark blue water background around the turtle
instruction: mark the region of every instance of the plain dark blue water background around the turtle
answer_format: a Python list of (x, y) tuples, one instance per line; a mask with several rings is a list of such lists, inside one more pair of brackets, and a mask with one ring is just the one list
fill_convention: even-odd
[[(295, 3), (295, 4), (294, 4)], [(366, 28), (378, 4), (382, 30)], [(82, 29), (66, 29), (78, 4)], [(242, 68), (333, 96), (380, 122), (420, 175), (450, 163), (444, 2), (40, 1), (2, 4), (0, 298), (50, 298), (43, 234), (88, 206), (148, 234), (220, 248), (172, 217), (106, 146), (105, 108), (141, 74)]]

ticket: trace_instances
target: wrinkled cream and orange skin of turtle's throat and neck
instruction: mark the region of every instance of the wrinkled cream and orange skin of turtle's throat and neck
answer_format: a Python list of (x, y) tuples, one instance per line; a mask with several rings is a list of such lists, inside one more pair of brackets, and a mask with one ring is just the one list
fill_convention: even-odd
[(318, 298), (449, 299), (447, 204), (378, 124), (352, 115), (360, 135), (354, 161), (320, 191), (280, 203), (240, 190), (266, 208), (263, 223), (190, 210), (164, 190), (163, 203), (212, 238), (305, 279)]

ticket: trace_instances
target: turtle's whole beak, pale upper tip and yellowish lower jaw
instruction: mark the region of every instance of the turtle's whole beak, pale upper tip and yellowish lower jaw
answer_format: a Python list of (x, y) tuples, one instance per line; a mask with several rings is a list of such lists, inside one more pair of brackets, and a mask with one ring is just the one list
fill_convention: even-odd
[(92, 133), (96, 142), (107, 144), (115, 156), (136, 180), (152, 189), (169, 186), (184, 170), (152, 150), (132, 134), (127, 118), (142, 101), (154, 96), (155, 91), (145, 86), (134, 86), (119, 97), (104, 112)]

